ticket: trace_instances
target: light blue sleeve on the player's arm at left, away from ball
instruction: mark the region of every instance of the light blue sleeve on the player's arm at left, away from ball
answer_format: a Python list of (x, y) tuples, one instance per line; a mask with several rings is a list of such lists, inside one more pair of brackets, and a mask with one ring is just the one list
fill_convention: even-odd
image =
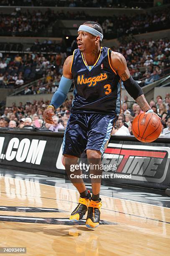
[(50, 105), (53, 105), (54, 108), (60, 107), (64, 100), (66, 100), (67, 93), (70, 90), (73, 79), (68, 79), (66, 77), (61, 77), (60, 84), (58, 90), (54, 93)]

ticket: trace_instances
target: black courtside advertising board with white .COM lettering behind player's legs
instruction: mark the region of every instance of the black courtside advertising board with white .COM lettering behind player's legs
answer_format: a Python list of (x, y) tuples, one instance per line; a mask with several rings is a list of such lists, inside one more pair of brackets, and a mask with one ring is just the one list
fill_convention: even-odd
[[(33, 129), (0, 129), (0, 166), (54, 172), (67, 179), (62, 164), (63, 133)], [(85, 152), (80, 161), (87, 164)], [(165, 190), (170, 185), (170, 138), (142, 143), (134, 136), (111, 136), (102, 164), (116, 166), (103, 171), (119, 175), (107, 179), (110, 185), (121, 183)]]

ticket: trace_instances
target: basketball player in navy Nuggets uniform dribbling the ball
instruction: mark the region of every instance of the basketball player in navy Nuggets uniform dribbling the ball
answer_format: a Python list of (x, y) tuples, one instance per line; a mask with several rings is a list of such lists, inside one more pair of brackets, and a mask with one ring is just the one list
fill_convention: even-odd
[[(74, 81), (74, 100), (71, 115), (63, 138), (63, 164), (70, 174), (70, 165), (77, 164), (81, 153), (86, 150), (89, 164), (101, 164), (104, 153), (120, 114), (120, 79), (129, 95), (143, 111), (153, 112), (143, 95), (141, 87), (130, 76), (127, 63), (118, 52), (101, 47), (103, 31), (96, 22), (88, 21), (78, 29), (78, 49), (74, 50), (63, 65), (63, 76), (58, 90), (52, 97), (43, 117), (53, 124), (54, 111), (62, 105)], [(94, 173), (94, 170), (90, 170)], [(97, 170), (101, 174), (101, 170)], [(81, 174), (76, 170), (74, 174)], [(99, 197), (101, 178), (91, 179), (92, 196), (83, 179), (71, 179), (80, 193), (79, 205), (71, 213), (73, 222), (83, 218), (86, 211), (86, 226), (96, 228), (100, 221), (101, 199)]]

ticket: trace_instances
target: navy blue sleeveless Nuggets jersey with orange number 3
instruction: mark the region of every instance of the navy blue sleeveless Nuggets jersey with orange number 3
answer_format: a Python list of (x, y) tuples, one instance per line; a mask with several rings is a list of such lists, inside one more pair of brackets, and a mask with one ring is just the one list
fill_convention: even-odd
[(111, 49), (101, 47), (94, 66), (88, 66), (79, 49), (73, 53), (71, 73), (74, 100), (71, 113), (120, 114), (120, 78), (110, 64)]

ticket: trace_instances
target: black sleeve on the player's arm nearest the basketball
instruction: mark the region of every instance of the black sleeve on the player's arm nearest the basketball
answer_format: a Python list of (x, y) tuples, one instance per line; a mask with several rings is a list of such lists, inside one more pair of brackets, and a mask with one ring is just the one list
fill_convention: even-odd
[(134, 100), (136, 100), (137, 97), (143, 94), (141, 87), (136, 81), (134, 81), (132, 76), (130, 76), (129, 79), (127, 79), (126, 81), (123, 81), (123, 84), (124, 88), (127, 90), (129, 95), (134, 98)]

